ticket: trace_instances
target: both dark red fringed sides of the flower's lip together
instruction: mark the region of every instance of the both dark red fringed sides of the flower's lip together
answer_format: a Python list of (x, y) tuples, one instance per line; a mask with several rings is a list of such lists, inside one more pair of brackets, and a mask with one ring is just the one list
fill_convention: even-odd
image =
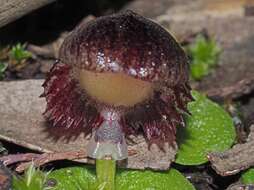
[[(47, 131), (56, 140), (91, 134), (102, 122), (95, 105), (70, 77), (70, 70), (69, 65), (55, 64), (43, 84), (42, 96), (47, 101), (44, 115), (53, 125)], [(183, 114), (188, 113), (187, 103), (193, 98), (186, 84), (167, 89), (155, 92), (151, 100), (123, 114), (121, 124), (126, 137), (143, 131), (149, 146), (154, 143), (163, 149), (164, 143), (174, 145), (176, 127), (184, 125)]]

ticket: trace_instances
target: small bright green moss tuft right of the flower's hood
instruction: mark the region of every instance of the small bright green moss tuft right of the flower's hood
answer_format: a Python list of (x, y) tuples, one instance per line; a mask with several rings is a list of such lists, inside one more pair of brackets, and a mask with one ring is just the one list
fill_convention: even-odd
[(187, 48), (192, 61), (190, 65), (191, 77), (201, 80), (217, 65), (221, 49), (214, 40), (207, 40), (199, 35), (195, 42)]

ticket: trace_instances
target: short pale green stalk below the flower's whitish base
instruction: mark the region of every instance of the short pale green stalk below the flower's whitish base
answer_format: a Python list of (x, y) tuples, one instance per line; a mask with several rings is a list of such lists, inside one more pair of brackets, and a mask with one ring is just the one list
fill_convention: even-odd
[(98, 190), (115, 190), (116, 161), (96, 160)]

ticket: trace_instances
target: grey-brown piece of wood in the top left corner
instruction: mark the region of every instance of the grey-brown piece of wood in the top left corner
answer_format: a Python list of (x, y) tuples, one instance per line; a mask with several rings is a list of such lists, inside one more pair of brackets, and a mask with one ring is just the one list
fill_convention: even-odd
[(0, 28), (55, 0), (0, 0)]

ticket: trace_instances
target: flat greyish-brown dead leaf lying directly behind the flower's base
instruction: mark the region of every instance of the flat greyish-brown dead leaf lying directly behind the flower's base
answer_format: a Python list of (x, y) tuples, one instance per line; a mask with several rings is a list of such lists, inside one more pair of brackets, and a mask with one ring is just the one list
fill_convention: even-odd
[[(48, 137), (42, 117), (46, 102), (39, 98), (42, 83), (42, 80), (0, 82), (0, 139), (42, 153), (85, 151), (88, 139), (83, 136), (69, 143)], [(166, 147), (164, 153), (153, 147), (150, 152), (142, 136), (133, 140), (137, 143), (128, 146), (129, 157), (121, 162), (122, 167), (166, 170), (175, 158), (177, 148)], [(85, 158), (82, 162), (93, 160)]]

